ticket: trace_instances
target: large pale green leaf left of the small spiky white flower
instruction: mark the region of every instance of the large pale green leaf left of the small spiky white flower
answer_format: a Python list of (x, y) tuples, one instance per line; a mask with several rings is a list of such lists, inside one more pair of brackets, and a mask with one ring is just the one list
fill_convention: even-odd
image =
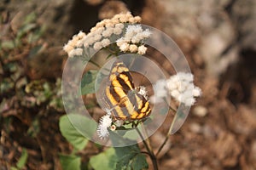
[(88, 143), (85, 136), (90, 138), (96, 132), (97, 127), (96, 122), (92, 119), (78, 114), (61, 116), (59, 126), (61, 134), (77, 150), (84, 149)]

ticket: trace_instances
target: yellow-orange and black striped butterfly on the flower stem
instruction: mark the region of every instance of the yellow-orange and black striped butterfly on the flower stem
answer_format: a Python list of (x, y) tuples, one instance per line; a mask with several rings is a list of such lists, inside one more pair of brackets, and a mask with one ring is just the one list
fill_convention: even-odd
[(129, 69), (119, 59), (113, 63), (103, 96), (116, 120), (142, 120), (150, 115), (147, 97), (140, 93), (140, 87), (134, 87)]

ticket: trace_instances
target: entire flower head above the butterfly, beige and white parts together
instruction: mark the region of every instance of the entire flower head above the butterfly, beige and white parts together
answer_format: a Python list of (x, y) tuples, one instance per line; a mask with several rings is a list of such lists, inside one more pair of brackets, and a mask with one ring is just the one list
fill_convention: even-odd
[[(78, 51), (73, 51), (76, 48), (90, 48), (95, 50), (106, 48), (110, 45), (110, 40), (116, 41), (118, 35), (121, 35), (125, 31), (125, 37), (121, 38), (117, 45), (123, 52), (129, 51), (131, 53), (137, 53), (138, 47), (136, 43), (142, 43), (143, 39), (149, 37), (150, 31), (143, 31), (142, 26), (136, 25), (141, 21), (141, 17), (132, 16), (130, 12), (116, 14), (112, 19), (105, 19), (98, 23), (96, 26), (90, 29), (90, 32), (86, 35), (83, 31), (79, 31), (77, 35), (74, 35), (72, 40), (68, 41), (63, 47), (69, 57), (79, 54)], [(131, 25), (132, 24), (132, 25)], [(133, 38), (133, 39), (132, 39)], [(128, 44), (124, 44), (127, 42)], [(135, 46), (136, 45), (136, 46)], [(144, 48), (145, 51), (147, 48)], [(88, 56), (88, 50), (84, 50), (84, 56)], [(140, 50), (139, 54), (145, 54)]]

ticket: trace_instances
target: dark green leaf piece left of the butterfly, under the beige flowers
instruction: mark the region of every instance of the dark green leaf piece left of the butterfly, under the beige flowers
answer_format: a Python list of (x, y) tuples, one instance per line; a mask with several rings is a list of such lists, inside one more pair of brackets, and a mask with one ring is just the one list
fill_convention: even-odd
[(95, 81), (98, 71), (88, 71), (82, 77), (81, 82), (81, 93), (84, 94), (95, 94)]

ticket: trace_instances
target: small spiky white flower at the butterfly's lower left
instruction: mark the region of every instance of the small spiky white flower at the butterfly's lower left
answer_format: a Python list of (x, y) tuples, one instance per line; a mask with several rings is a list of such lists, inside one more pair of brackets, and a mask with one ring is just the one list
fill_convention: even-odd
[(102, 116), (99, 122), (99, 125), (97, 127), (97, 134), (101, 139), (105, 139), (108, 137), (108, 127), (110, 127), (112, 124), (112, 119), (108, 115), (108, 112), (106, 115)]

